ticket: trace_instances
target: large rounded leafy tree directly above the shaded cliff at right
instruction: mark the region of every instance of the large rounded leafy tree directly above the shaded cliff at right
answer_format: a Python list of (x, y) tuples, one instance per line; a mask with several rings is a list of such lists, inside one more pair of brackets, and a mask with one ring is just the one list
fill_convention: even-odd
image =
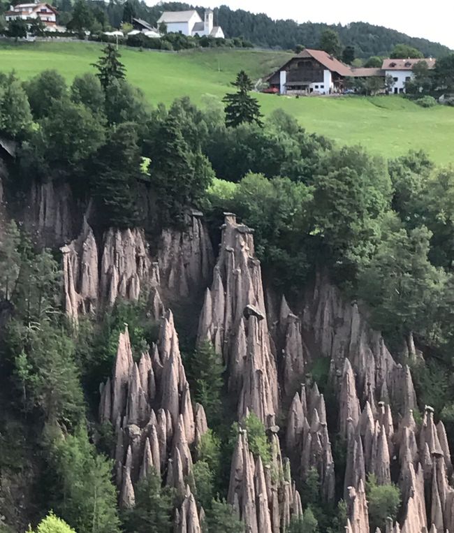
[(313, 235), (346, 277), (372, 256), (390, 198), (384, 161), (363, 149), (333, 150), (321, 161), (314, 177)]

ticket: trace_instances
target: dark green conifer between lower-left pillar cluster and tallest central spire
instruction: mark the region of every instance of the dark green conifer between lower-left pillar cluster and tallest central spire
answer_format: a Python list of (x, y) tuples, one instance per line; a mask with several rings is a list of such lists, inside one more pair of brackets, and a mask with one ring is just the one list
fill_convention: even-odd
[(194, 399), (203, 405), (208, 425), (217, 425), (221, 422), (224, 387), (222, 356), (214, 351), (211, 342), (205, 341), (193, 353), (190, 365)]

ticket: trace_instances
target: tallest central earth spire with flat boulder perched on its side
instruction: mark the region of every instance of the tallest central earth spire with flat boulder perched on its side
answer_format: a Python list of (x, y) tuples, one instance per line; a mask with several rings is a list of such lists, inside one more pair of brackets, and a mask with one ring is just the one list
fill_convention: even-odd
[(228, 367), (229, 390), (238, 394), (238, 418), (247, 410), (262, 421), (277, 412), (277, 368), (271, 352), (260, 262), (252, 231), (226, 214), (219, 257), (198, 327)]

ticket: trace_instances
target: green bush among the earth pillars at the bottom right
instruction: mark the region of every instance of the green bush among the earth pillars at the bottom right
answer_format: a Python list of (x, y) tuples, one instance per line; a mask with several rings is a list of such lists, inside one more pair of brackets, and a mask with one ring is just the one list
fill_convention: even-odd
[(373, 474), (369, 474), (366, 483), (367, 502), (369, 504), (369, 526), (385, 529), (388, 516), (394, 521), (400, 506), (400, 490), (396, 485), (377, 485)]

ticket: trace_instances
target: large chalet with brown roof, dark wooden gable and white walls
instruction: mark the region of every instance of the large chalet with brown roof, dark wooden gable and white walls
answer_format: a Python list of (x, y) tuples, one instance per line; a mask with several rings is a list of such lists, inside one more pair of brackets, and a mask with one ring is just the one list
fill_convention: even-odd
[(280, 94), (342, 93), (345, 78), (384, 77), (380, 68), (352, 68), (323, 50), (305, 48), (268, 78)]

